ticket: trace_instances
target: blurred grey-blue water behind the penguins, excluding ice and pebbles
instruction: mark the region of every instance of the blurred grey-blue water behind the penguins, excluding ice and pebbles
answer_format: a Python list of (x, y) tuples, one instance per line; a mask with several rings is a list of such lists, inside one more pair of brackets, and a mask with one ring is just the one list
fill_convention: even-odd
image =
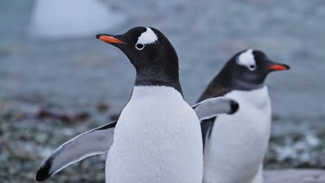
[[(0, 2), (0, 101), (14, 106), (45, 103), (81, 110), (108, 101), (112, 110), (119, 112), (128, 101), (135, 78), (126, 56), (94, 35), (58, 40), (31, 37), (31, 2)], [(315, 141), (322, 141), (325, 1), (108, 3), (127, 21), (104, 33), (152, 26), (169, 37), (178, 52), (184, 96), (191, 104), (238, 51), (260, 49), (272, 60), (289, 64), (290, 71), (267, 78), (273, 137), (300, 133), (306, 134), (306, 143), (315, 135)]]

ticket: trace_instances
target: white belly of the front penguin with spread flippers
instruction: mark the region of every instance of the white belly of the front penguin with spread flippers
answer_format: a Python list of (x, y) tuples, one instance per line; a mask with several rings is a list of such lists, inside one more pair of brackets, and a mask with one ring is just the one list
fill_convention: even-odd
[(172, 87), (135, 87), (115, 128), (106, 182), (201, 182), (201, 128)]

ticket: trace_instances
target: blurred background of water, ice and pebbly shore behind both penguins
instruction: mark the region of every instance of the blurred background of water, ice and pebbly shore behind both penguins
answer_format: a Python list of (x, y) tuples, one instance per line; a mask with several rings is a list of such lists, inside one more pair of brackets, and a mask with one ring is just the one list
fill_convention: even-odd
[[(260, 49), (290, 71), (269, 75), (266, 168), (325, 168), (325, 1), (0, 1), (0, 182), (34, 182), (61, 143), (116, 118), (133, 66), (97, 33), (160, 29), (194, 104), (231, 56)], [(106, 155), (48, 182), (103, 182)], [(73, 176), (78, 174), (78, 176)]]

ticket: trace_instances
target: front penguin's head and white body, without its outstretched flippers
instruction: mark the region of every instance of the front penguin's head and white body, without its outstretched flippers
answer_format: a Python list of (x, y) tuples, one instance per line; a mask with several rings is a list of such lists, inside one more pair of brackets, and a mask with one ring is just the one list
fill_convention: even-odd
[(123, 51), (136, 71), (106, 158), (106, 182), (201, 182), (201, 127), (183, 100), (172, 44), (146, 27), (97, 38)]

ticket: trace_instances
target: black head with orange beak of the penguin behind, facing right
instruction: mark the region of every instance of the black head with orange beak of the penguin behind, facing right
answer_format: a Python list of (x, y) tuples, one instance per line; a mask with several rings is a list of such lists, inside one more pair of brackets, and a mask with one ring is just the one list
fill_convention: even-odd
[(288, 70), (286, 64), (269, 60), (262, 51), (248, 49), (236, 53), (217, 76), (218, 82), (231, 89), (256, 89), (263, 87), (272, 71)]

